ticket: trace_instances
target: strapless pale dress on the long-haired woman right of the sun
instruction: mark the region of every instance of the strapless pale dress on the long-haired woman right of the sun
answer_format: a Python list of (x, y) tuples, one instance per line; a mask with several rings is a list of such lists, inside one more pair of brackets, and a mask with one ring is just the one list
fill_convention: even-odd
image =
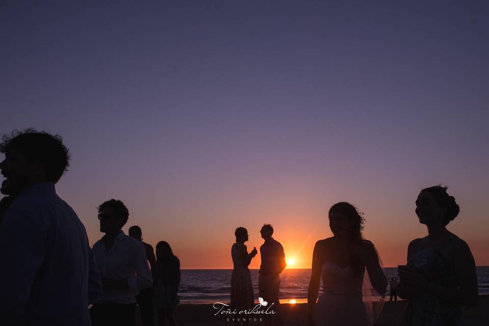
[(324, 293), (319, 297), (315, 326), (368, 326), (369, 317), (363, 302), (365, 269), (354, 277), (350, 266), (341, 268), (324, 262), (321, 268)]

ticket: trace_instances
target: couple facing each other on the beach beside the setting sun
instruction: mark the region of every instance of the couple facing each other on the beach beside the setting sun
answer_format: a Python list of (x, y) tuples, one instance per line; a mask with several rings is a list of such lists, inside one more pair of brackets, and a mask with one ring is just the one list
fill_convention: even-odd
[[(279, 289), (280, 289), (280, 273), (284, 270), (285, 253), (282, 244), (271, 237), (274, 233), (274, 228), (265, 224), (260, 230), (261, 237), (265, 240), (260, 247), (261, 265), (258, 271), (258, 291), (260, 298), (266, 302), (265, 305), (274, 305), (273, 320), (278, 326), (283, 325), (282, 316), (280, 313)], [(248, 230), (239, 227), (234, 232), (236, 243), (231, 248), (231, 257), (233, 259), (233, 274), (231, 276), (231, 307), (236, 310), (249, 310), (255, 306), (255, 298), (253, 294), (253, 285), (251, 282), (251, 274), (248, 266), (253, 257), (257, 255), (256, 248), (248, 253), (244, 242), (248, 241)], [(240, 321), (236, 318), (235, 324)], [(249, 322), (243, 320), (247, 325)]]

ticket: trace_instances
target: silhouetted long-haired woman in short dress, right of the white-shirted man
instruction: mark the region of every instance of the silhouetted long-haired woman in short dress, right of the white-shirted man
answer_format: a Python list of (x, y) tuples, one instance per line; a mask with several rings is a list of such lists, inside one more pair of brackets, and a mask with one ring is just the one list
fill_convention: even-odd
[(170, 244), (159, 241), (156, 244), (157, 276), (154, 286), (155, 305), (160, 326), (176, 326), (174, 310), (179, 303), (180, 260), (173, 254)]

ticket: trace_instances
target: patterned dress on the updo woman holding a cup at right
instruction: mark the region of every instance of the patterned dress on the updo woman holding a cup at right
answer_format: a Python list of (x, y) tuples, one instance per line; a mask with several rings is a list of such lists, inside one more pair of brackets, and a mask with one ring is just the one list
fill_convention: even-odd
[[(455, 269), (440, 249), (423, 249), (416, 252), (408, 261), (429, 282), (448, 288), (457, 287)], [(464, 324), (460, 308), (452, 302), (445, 302), (436, 295), (423, 292), (412, 298), (404, 312), (404, 326), (455, 326)]]

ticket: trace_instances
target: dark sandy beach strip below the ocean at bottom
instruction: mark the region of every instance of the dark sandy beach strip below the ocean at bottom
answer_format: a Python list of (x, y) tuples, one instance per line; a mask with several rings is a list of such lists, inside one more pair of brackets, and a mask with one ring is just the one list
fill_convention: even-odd
[[(398, 326), (402, 322), (402, 314), (406, 301), (386, 302), (381, 315), (375, 322), (378, 326)], [(180, 305), (176, 311), (176, 317), (180, 326), (224, 326), (233, 325), (231, 315), (214, 314), (218, 310), (212, 305)], [(283, 317), (286, 326), (303, 326), (306, 324), (306, 304), (283, 304)], [(489, 295), (479, 295), (479, 304), (475, 308), (463, 307), (464, 317), (469, 325), (489, 324)], [(229, 320), (228, 320), (229, 318)], [(256, 315), (257, 321), (252, 321), (250, 325), (264, 325), (264, 321), (259, 321), (260, 315)], [(138, 326), (142, 326), (139, 321)]]

